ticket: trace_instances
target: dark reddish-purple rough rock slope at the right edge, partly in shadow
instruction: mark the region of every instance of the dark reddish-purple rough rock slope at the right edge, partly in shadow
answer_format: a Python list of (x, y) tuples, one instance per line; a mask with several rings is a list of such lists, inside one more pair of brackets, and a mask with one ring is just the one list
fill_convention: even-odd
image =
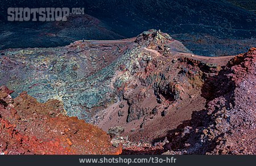
[(170, 131), (166, 149), (174, 154), (255, 154), (255, 73), (256, 49), (251, 48), (208, 78), (203, 88), (210, 96), (202, 94), (208, 100), (206, 108)]

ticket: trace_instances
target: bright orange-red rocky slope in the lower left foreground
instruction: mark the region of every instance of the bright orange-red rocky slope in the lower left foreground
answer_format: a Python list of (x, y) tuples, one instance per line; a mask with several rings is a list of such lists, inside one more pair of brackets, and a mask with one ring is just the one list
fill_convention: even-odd
[(0, 151), (5, 154), (120, 154), (109, 135), (76, 117), (64, 116), (58, 100), (38, 103), (0, 87)]

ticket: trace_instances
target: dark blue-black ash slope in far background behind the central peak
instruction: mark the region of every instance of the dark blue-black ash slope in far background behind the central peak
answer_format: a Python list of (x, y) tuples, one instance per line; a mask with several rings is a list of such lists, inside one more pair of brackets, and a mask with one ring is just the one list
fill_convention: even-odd
[(207, 33), (218, 37), (255, 36), (255, 14), (221, 0), (76, 0), (76, 1), (3, 1), (0, 9), (7, 18), (7, 8), (84, 7), (119, 35), (133, 37), (145, 29), (175, 33)]

